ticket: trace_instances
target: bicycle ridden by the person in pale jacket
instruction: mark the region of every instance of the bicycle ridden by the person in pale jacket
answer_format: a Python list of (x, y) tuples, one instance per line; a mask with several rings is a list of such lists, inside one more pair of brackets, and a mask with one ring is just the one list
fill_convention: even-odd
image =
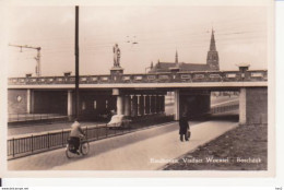
[[(71, 139), (69, 138), (66, 147), (66, 156), (68, 158), (72, 158), (73, 156), (78, 155), (74, 144), (71, 142)], [(80, 136), (80, 145), (79, 145), (79, 152), (81, 155), (85, 156), (87, 155), (90, 151), (90, 144), (85, 136)]]

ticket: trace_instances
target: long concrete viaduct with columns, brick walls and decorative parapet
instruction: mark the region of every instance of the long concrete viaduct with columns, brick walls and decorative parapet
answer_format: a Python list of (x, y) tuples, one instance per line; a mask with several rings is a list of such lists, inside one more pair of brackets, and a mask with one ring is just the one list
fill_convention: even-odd
[[(122, 69), (122, 68), (121, 68)], [(268, 122), (268, 71), (163, 72), (80, 76), (80, 115), (97, 117), (109, 110), (135, 117), (165, 111), (165, 95), (174, 92), (174, 115), (199, 116), (210, 110), (211, 91), (239, 92), (239, 123)], [(74, 114), (75, 76), (26, 76), (8, 80), (8, 111)]]

